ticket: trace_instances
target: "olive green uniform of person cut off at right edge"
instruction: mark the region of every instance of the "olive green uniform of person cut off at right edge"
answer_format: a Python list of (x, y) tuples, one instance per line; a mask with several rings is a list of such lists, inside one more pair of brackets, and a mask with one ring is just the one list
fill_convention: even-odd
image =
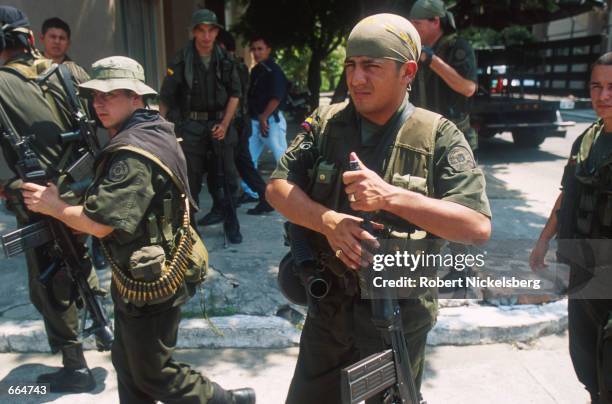
[[(606, 212), (609, 213), (610, 209), (609, 200), (606, 200), (605, 195), (595, 196), (588, 186), (583, 185), (599, 178), (601, 183), (596, 186), (610, 186), (611, 156), (612, 134), (604, 133), (601, 120), (574, 142), (561, 183), (563, 199), (559, 217), (560, 239), (612, 238), (612, 223), (606, 219)], [(593, 202), (586, 203), (587, 200)], [(590, 206), (593, 208), (590, 209)], [(568, 288), (573, 294), (591, 282), (594, 263), (577, 259), (589, 255), (585, 255), (586, 251), (576, 250), (576, 241), (570, 243), (571, 248), (562, 248), (560, 244), (559, 250), (562, 254), (568, 254), (571, 262)], [(595, 245), (602, 245), (606, 249), (603, 255), (609, 256), (609, 244)], [(596, 249), (592, 252), (597, 256)], [(610, 262), (608, 259), (597, 264), (609, 266)], [(578, 380), (591, 394), (594, 403), (612, 402), (612, 299), (605, 297), (609, 296), (589, 299), (577, 294), (568, 301), (570, 356)], [(606, 325), (608, 337), (605, 345), (607, 348), (604, 348)]]

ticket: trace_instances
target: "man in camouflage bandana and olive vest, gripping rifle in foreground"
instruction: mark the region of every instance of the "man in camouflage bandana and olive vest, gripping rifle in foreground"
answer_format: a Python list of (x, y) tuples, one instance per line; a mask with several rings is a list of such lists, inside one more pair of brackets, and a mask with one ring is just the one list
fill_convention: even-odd
[[(305, 228), (316, 267), (332, 279), (328, 294), (316, 302), (316, 315), (306, 317), (288, 404), (342, 402), (341, 370), (386, 346), (370, 301), (359, 295), (356, 271), (367, 270), (360, 267), (361, 243), (374, 238), (361, 228), (364, 212), (411, 253), (415, 246), (406, 237), (437, 253), (440, 239), (473, 243), (490, 235), (484, 175), (463, 134), (408, 98), (420, 52), (419, 35), (405, 18), (377, 14), (361, 20), (346, 46), (350, 101), (319, 107), (271, 175), (268, 201)], [(349, 161), (357, 161), (359, 170), (349, 171)], [(286, 256), (279, 285), (298, 302), (292, 293), (304, 285), (294, 271), (299, 268)], [(402, 326), (420, 389), (437, 292), (404, 292), (409, 298), (399, 303)], [(382, 401), (378, 394), (367, 403)]]

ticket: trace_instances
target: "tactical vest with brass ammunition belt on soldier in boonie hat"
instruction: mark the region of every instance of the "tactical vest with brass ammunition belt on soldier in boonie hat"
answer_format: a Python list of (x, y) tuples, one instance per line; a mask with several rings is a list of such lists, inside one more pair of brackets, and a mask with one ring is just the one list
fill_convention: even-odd
[[(172, 194), (163, 195), (161, 201), (154, 200), (146, 212), (146, 228), (150, 246), (161, 246), (163, 257), (155, 261), (149, 258), (150, 265), (130, 263), (129, 268), (122, 268), (112, 258), (105, 243), (101, 240), (102, 250), (110, 263), (113, 282), (119, 295), (136, 306), (158, 304), (172, 298), (183, 283), (199, 284), (204, 281), (208, 272), (208, 251), (190, 225), (190, 201), (182, 181), (159, 158), (149, 151), (131, 145), (118, 145), (107, 149), (109, 153), (126, 150), (141, 155), (155, 163), (172, 180), (181, 193), (183, 200), (182, 220), (177, 230), (173, 229), (176, 217)], [(98, 167), (98, 175), (105, 164)], [(143, 255), (150, 251), (147, 250)]]

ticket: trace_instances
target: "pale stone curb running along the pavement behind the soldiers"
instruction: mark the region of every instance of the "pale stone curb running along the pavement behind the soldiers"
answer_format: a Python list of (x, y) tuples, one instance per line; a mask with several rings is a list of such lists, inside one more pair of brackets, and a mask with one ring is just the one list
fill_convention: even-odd
[[(216, 334), (204, 319), (181, 321), (177, 347), (288, 348), (297, 346), (300, 330), (277, 316), (213, 317), (223, 333)], [(493, 307), (472, 304), (440, 309), (428, 345), (479, 345), (528, 341), (567, 327), (567, 300), (544, 305)], [(93, 337), (85, 349), (95, 349)], [(0, 324), (0, 352), (49, 352), (43, 322), (5, 321)]]

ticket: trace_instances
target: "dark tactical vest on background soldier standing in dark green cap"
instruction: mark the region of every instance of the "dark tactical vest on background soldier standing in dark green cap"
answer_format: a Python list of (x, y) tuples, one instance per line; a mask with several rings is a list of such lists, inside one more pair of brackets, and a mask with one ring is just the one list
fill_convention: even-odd
[[(223, 111), (229, 99), (229, 88), (232, 85), (232, 69), (234, 62), (230, 59), (227, 52), (215, 45), (213, 48), (213, 58), (208, 66), (208, 72), (205, 73), (199, 69), (196, 71), (195, 58), (199, 57), (194, 45), (190, 42), (180, 54), (179, 63), (183, 64), (183, 78), (185, 80), (185, 88), (181, 93), (181, 115), (183, 119), (189, 115), (194, 105), (193, 100), (204, 100), (199, 102), (206, 106), (204, 112)], [(212, 91), (212, 99), (207, 98), (206, 93), (206, 77), (210, 70), (215, 73), (215, 85)], [(200, 108), (198, 108), (200, 110)], [(194, 109), (195, 111), (195, 109)]]

